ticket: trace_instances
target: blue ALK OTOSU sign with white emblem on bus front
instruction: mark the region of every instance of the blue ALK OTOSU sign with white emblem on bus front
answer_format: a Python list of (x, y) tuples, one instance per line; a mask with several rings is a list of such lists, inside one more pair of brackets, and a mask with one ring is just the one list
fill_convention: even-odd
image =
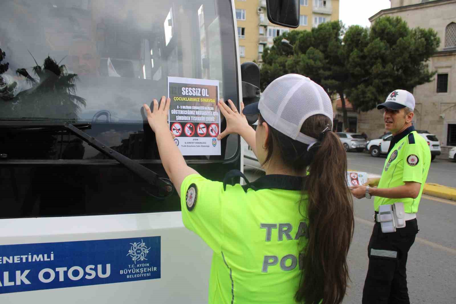
[(160, 236), (0, 245), (0, 294), (161, 278)]

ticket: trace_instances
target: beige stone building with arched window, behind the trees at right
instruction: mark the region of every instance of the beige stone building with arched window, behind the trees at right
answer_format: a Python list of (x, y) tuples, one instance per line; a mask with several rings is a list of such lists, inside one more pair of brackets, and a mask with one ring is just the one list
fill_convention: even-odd
[[(410, 28), (433, 28), (440, 37), (440, 47), (428, 62), (437, 74), (430, 83), (413, 90), (413, 122), (416, 129), (435, 134), (442, 145), (441, 157), (448, 157), (448, 150), (456, 146), (456, 0), (391, 0), (391, 8), (380, 10), (369, 21), (372, 24), (381, 16), (399, 16)], [(383, 134), (378, 110), (360, 113), (358, 132), (363, 131), (370, 138)]]

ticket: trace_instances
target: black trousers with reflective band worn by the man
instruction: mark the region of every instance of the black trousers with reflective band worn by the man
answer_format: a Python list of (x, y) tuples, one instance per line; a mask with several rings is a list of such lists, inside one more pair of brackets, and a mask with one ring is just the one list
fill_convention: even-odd
[(375, 223), (368, 246), (363, 304), (410, 303), (405, 264), (417, 233), (416, 219), (408, 220), (404, 228), (390, 233), (383, 233), (380, 223)]

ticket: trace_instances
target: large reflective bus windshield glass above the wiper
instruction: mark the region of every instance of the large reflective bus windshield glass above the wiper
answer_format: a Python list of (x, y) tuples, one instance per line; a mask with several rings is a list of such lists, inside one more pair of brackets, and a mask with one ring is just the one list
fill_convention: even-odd
[(218, 23), (214, 0), (2, 1), (0, 119), (142, 123), (167, 76), (223, 92)]

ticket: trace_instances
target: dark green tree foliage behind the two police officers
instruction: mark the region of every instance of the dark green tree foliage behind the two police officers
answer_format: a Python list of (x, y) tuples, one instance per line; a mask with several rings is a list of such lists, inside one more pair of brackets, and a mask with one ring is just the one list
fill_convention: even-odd
[(368, 111), (394, 89), (411, 91), (430, 82), (435, 72), (425, 62), (439, 45), (434, 30), (410, 29), (400, 17), (389, 16), (378, 18), (370, 29), (346, 29), (341, 22), (332, 21), (311, 31), (285, 32), (263, 52), (261, 89), (284, 74), (298, 73), (330, 95), (347, 96), (355, 109)]

